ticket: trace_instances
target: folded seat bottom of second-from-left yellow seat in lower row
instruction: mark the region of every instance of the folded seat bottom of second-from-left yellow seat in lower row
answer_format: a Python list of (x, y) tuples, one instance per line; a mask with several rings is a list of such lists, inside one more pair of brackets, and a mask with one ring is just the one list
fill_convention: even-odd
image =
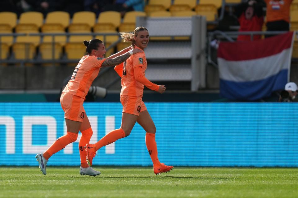
[(32, 43), (14, 43), (12, 45), (12, 53), (15, 59), (33, 59), (35, 49)]

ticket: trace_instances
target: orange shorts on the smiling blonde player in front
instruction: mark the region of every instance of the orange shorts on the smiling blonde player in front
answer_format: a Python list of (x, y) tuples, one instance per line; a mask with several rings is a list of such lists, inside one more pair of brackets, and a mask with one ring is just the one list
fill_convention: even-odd
[(140, 115), (140, 112), (147, 110), (141, 96), (120, 95), (120, 101), (123, 106), (122, 113)]

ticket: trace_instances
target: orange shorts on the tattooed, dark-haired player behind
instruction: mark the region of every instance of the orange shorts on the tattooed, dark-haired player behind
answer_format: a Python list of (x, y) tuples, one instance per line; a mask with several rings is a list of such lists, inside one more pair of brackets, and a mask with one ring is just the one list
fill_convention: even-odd
[(83, 102), (84, 99), (81, 97), (62, 92), (60, 103), (64, 111), (64, 118), (83, 122), (83, 118), (86, 114), (83, 107)]

